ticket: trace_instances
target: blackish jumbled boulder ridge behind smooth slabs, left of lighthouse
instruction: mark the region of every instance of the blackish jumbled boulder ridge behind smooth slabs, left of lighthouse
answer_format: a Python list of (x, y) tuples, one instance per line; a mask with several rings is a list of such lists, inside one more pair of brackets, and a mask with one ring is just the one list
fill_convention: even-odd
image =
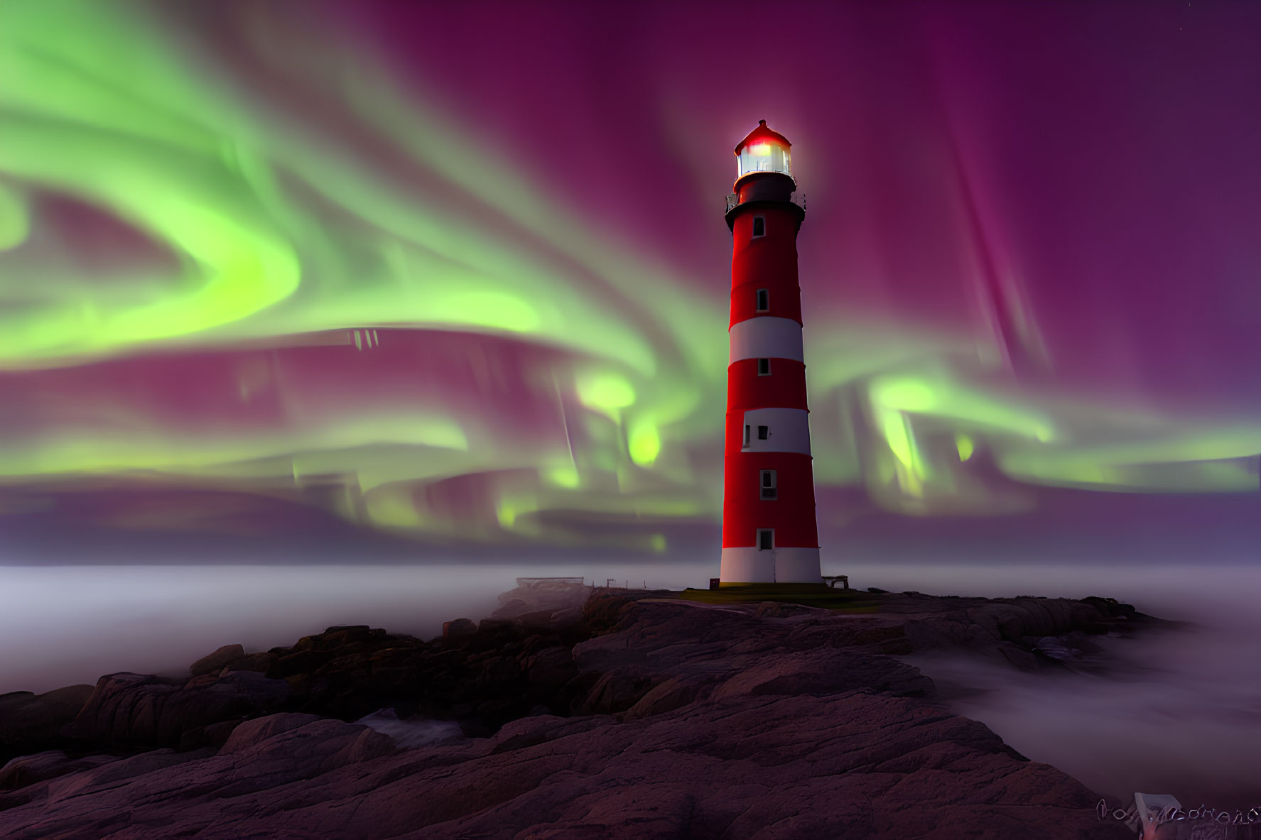
[(261, 653), (224, 646), (193, 663), (187, 680), (115, 674), (95, 687), (6, 695), (0, 755), (217, 748), (242, 719), (275, 711), (349, 721), (398, 708), (494, 732), (536, 706), (571, 708), (579, 686), (566, 694), (578, 676), (570, 650), (586, 632), (571, 604), (567, 595), (559, 610), (455, 622), (456, 638), (446, 642), (330, 627)]

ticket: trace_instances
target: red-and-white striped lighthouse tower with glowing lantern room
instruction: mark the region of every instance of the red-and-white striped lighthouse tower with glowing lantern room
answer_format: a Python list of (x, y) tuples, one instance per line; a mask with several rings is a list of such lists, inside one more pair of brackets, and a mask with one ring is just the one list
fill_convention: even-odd
[(791, 145), (762, 120), (735, 146), (723, 584), (821, 583)]

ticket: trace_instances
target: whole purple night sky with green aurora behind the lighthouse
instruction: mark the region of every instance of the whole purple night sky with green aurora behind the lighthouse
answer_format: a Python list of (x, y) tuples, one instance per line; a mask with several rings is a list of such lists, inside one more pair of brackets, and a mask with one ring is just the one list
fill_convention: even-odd
[(1255, 493), (1258, 35), (1198, 1), (0, 0), (0, 530), (670, 551), (721, 508), (758, 119), (808, 197), (825, 539)]

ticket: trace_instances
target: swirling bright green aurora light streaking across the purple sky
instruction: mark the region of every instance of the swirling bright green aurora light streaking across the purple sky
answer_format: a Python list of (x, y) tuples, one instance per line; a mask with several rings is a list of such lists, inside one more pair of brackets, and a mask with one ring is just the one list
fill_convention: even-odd
[[(156, 474), (308, 499), (313, 482), (337, 475), (333, 501), (311, 503), (401, 534), (589, 542), (542, 516), (576, 511), (636, 523), (654, 551), (666, 550), (656, 527), (718, 518), (720, 459), (704, 453), (721, 441), (723, 277), (646, 256), (349, 43), (315, 33), (319, 49), (259, 50), (388, 148), (393, 163), (375, 164), (357, 139), (235, 83), (160, 5), (0, 1), (0, 377), (330, 341), (362, 353), (404, 329), (478, 333), (546, 351), (530, 356), (547, 361), (525, 385), (561, 406), (564, 429), (504, 439), (498, 420), (433, 395), (194, 435), (120, 397), (100, 407), (108, 424), (0, 439), (0, 478)], [(415, 187), (421, 174), (444, 192)], [(47, 195), (97, 208), (163, 255), (84, 269), (47, 232)], [(516, 233), (480, 223), (488, 216)], [(968, 473), (981, 450), (1026, 484), (1257, 488), (1261, 428), (1016, 390), (989, 335), (825, 308), (806, 341), (816, 481), (864, 483), (884, 510), (1033, 505)], [(469, 474), (497, 475), (493, 515), (477, 527), (417, 492)]]

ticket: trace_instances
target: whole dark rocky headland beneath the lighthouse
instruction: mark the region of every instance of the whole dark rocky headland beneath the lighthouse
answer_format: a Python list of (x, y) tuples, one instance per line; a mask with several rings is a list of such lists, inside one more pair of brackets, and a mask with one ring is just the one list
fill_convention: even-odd
[(435, 639), (332, 627), (3, 695), (0, 836), (1131, 836), (898, 657), (1055, 670), (1164, 622), (1106, 598), (793, 600), (542, 581)]

